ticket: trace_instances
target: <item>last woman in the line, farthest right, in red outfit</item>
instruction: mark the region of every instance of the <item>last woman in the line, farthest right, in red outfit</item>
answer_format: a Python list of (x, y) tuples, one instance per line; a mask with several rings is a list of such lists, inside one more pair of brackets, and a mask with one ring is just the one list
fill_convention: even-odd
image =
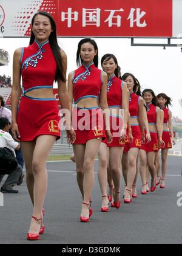
[[(157, 95), (158, 106), (164, 111), (164, 122), (163, 122), (163, 136), (162, 139), (165, 145), (161, 146), (161, 159), (162, 159), (162, 177), (160, 188), (165, 187), (165, 176), (167, 171), (167, 153), (169, 148), (172, 148), (172, 144), (175, 144), (174, 134), (172, 129), (172, 112), (169, 110), (171, 105), (171, 99), (166, 94), (161, 93)], [(160, 176), (158, 174), (158, 176)], [(159, 177), (158, 177), (159, 178)], [(160, 182), (160, 181), (158, 181)]]

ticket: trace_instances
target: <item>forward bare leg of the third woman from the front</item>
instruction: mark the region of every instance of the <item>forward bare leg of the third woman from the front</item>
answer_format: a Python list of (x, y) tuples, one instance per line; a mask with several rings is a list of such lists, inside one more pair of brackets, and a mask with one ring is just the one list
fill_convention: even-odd
[[(123, 154), (123, 147), (109, 148), (109, 169), (112, 173), (113, 184), (116, 192), (120, 192), (121, 187), (121, 157)], [(114, 194), (114, 201), (120, 201), (120, 193)]]

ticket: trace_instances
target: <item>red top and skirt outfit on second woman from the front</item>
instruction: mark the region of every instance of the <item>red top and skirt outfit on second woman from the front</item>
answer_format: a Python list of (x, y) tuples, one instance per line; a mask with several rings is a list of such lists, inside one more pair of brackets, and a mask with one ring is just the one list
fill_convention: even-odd
[(104, 119), (101, 109), (77, 108), (76, 104), (84, 98), (99, 99), (103, 72), (94, 63), (82, 64), (73, 71), (73, 116), (72, 125), (76, 133), (74, 144), (86, 144), (88, 140), (106, 138)]

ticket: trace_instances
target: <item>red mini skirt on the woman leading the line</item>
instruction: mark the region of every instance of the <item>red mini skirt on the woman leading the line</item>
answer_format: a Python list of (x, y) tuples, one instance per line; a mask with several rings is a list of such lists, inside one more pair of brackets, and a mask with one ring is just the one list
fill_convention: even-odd
[(21, 98), (18, 110), (18, 130), (21, 141), (32, 141), (40, 135), (61, 137), (61, 117), (56, 100)]

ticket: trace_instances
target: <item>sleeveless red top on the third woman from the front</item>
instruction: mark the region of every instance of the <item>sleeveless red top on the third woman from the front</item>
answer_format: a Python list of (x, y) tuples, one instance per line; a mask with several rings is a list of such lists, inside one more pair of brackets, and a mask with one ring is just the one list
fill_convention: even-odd
[(107, 81), (107, 104), (109, 108), (122, 106), (123, 81), (113, 75)]

